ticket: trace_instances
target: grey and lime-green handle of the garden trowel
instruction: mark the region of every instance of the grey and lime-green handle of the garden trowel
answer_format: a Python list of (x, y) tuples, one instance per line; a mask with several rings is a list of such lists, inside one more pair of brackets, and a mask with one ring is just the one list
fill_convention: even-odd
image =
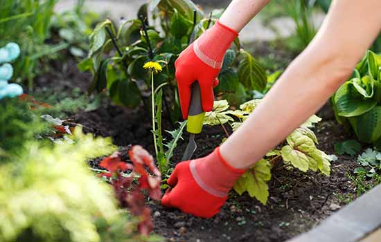
[(186, 131), (188, 131), (188, 133), (201, 133), (204, 117), (205, 112), (202, 109), (200, 85), (196, 81), (192, 84)]

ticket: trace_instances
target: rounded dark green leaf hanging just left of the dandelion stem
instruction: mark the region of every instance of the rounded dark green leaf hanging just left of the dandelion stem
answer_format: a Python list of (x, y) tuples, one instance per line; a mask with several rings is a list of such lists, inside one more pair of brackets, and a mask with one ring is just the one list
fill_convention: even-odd
[(140, 91), (136, 82), (130, 80), (122, 80), (118, 85), (119, 100), (125, 106), (129, 108), (134, 108), (138, 106), (141, 102)]

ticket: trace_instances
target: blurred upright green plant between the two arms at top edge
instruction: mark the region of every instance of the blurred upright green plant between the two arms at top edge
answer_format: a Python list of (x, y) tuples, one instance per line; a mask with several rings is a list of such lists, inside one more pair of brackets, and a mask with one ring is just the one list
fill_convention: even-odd
[(312, 10), (314, 9), (315, 0), (290, 0), (282, 1), (282, 4), (296, 25), (295, 46), (299, 50), (303, 50), (310, 44), (317, 32), (317, 28), (312, 22)]

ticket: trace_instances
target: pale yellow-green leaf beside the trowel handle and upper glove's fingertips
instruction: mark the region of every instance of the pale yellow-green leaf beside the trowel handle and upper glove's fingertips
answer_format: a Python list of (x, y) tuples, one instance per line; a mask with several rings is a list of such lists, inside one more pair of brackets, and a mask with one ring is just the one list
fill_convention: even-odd
[(227, 109), (229, 109), (229, 104), (227, 100), (215, 101), (213, 103), (212, 111), (205, 113), (204, 125), (209, 124), (213, 126), (224, 124), (229, 121), (233, 122), (233, 118), (227, 115), (229, 113), (227, 113)]

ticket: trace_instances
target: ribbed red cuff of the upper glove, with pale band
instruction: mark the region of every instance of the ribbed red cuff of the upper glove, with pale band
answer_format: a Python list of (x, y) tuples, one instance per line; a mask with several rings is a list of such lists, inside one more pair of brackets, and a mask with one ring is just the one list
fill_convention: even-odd
[(238, 32), (217, 21), (212, 28), (196, 39), (193, 50), (202, 62), (212, 68), (220, 69), (225, 53), (237, 36)]

